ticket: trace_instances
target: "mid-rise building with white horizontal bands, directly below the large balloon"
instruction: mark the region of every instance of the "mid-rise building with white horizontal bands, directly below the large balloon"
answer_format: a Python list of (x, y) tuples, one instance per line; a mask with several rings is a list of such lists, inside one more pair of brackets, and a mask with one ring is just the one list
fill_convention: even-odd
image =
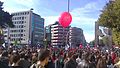
[(66, 37), (69, 32), (69, 27), (63, 28), (59, 22), (55, 22), (51, 26), (51, 45), (52, 46), (65, 46)]

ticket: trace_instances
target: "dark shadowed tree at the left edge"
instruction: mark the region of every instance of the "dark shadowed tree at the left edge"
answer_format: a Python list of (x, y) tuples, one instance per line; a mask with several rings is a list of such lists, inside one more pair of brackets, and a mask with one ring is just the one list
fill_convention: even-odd
[(12, 22), (12, 15), (10, 15), (8, 12), (5, 12), (2, 6), (3, 2), (0, 1), (0, 44), (4, 43), (2, 28), (6, 28), (8, 26), (14, 27)]

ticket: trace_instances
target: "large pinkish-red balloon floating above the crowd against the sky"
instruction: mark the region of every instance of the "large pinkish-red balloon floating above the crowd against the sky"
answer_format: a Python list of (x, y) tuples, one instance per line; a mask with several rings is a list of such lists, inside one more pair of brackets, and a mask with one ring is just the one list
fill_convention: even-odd
[(69, 12), (63, 12), (61, 14), (61, 17), (59, 18), (59, 23), (62, 25), (62, 27), (66, 28), (68, 27), (72, 22), (72, 16)]

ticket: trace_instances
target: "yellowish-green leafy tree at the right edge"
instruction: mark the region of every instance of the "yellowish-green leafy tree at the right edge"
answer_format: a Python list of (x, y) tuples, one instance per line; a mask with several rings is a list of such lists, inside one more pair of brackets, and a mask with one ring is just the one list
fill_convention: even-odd
[(113, 42), (120, 45), (120, 0), (107, 3), (97, 22), (100, 26), (112, 29)]

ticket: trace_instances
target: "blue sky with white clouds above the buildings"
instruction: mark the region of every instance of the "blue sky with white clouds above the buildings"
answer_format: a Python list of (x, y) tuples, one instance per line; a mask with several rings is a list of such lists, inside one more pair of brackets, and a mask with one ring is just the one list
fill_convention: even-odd
[[(45, 25), (58, 20), (60, 14), (67, 11), (67, 0), (0, 0), (4, 10), (10, 13), (33, 8), (34, 12), (45, 18)], [(94, 23), (100, 10), (108, 0), (70, 0), (71, 26), (82, 28), (87, 42), (94, 39)]]

